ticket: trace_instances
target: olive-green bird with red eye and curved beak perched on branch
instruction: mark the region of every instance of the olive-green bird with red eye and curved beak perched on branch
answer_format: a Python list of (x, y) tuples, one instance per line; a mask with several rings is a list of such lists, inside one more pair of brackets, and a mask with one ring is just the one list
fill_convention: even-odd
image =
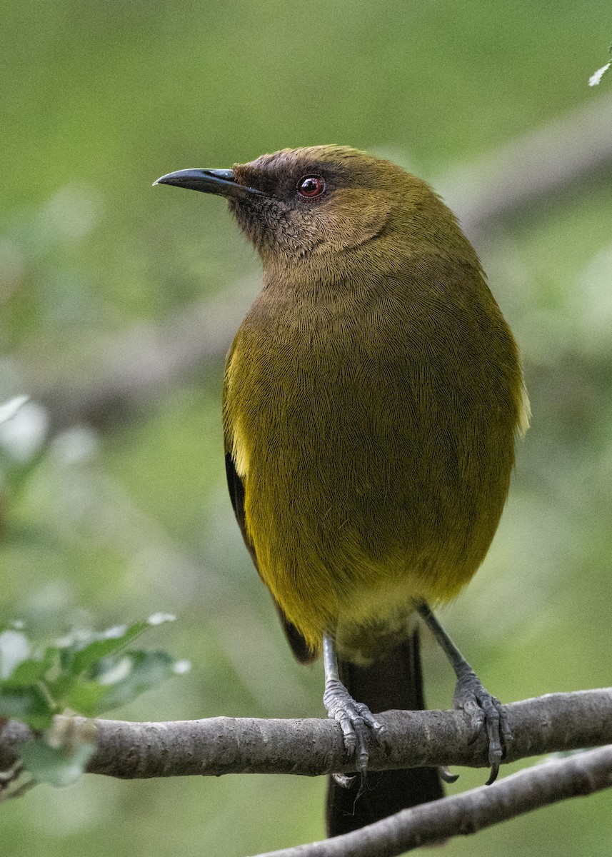
[[(377, 715), (421, 710), (419, 617), (454, 705), (512, 740), (500, 702), (437, 620), (493, 539), (530, 406), (518, 346), (441, 197), (355, 148), (285, 148), (156, 184), (220, 195), (262, 288), (225, 365), (231, 503), (299, 662), (360, 776), (332, 776), (327, 834), (443, 795), (446, 769), (365, 775)], [(383, 718), (384, 719), (384, 718)]]

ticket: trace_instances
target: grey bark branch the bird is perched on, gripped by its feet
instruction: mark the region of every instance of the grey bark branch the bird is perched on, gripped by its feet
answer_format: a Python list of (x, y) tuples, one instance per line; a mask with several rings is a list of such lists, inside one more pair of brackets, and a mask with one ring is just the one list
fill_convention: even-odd
[[(612, 743), (612, 688), (551, 693), (506, 706), (513, 742), (507, 762), (541, 753)], [(70, 720), (91, 734), (92, 721)], [(474, 740), (463, 711), (389, 711), (385, 746), (370, 748), (371, 770), (459, 764), (488, 767), (486, 736)], [(319, 776), (349, 771), (341, 732), (330, 720), (208, 720), (130, 723), (95, 720), (96, 751), (87, 771), (122, 779), (237, 773)], [(15, 721), (0, 729), (0, 770), (32, 736)], [(354, 767), (354, 763), (352, 763)]]

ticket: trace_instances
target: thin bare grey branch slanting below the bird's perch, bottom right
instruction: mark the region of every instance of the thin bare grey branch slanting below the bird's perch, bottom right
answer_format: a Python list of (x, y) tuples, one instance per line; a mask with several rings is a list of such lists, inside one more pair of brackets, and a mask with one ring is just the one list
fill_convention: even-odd
[(538, 764), (492, 786), (472, 788), (463, 794), (403, 810), (345, 836), (282, 848), (258, 857), (395, 857), (610, 786), (612, 746), (607, 746)]

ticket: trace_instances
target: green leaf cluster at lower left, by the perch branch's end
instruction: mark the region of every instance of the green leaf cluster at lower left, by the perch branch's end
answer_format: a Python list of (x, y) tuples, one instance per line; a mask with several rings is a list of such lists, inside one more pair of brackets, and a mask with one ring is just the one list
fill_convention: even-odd
[[(31, 639), (21, 622), (0, 627), (0, 718), (13, 717), (37, 730), (19, 750), (27, 788), (35, 782), (69, 785), (95, 749), (91, 722), (84, 728), (54, 723), (56, 714), (97, 717), (189, 672), (188, 661), (175, 661), (168, 652), (128, 648), (150, 628), (174, 618), (157, 613), (102, 632), (75, 628), (51, 644)], [(0, 795), (21, 794), (21, 779)]]

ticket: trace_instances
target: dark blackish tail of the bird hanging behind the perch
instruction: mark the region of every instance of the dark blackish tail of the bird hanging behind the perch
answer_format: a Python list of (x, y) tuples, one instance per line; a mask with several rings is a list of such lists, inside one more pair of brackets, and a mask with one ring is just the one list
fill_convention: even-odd
[[(340, 662), (340, 678), (357, 702), (374, 714), (389, 709), (422, 710), (423, 676), (418, 632), (370, 667)], [(331, 777), (327, 788), (327, 836), (339, 836), (373, 824), (409, 806), (444, 796), (435, 768), (372, 771), (363, 793), (356, 776), (350, 788)]]

